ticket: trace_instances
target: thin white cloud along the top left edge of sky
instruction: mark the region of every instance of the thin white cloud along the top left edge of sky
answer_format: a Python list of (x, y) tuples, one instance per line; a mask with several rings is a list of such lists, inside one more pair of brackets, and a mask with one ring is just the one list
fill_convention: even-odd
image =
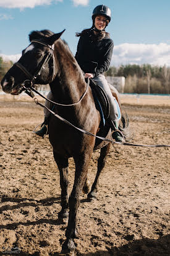
[(4, 8), (34, 8), (35, 6), (49, 5), (51, 2), (62, 2), (62, 0), (0, 0), (0, 7)]

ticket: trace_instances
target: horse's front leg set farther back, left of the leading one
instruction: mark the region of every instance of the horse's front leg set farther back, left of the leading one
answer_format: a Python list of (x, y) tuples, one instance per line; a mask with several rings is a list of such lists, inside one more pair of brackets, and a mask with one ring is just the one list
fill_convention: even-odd
[(68, 197), (68, 158), (64, 158), (61, 155), (58, 155), (56, 152), (54, 153), (54, 159), (57, 163), (57, 167), (59, 168), (60, 173), (60, 186), (61, 186), (61, 211), (58, 216), (62, 221), (67, 222), (69, 217), (69, 197)]

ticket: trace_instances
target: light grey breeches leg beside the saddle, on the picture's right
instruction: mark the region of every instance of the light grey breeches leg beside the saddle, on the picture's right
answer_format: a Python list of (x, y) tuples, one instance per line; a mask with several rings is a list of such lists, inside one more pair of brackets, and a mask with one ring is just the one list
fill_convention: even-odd
[(98, 85), (104, 89), (106, 95), (108, 96), (108, 100), (110, 104), (109, 119), (111, 121), (117, 121), (117, 117), (119, 114), (117, 111), (116, 98), (114, 98), (113, 94), (111, 93), (111, 89), (109, 88), (108, 81), (106, 80), (105, 76), (98, 75), (98, 76), (95, 76), (95, 78), (92, 78), (92, 80), (98, 83)]

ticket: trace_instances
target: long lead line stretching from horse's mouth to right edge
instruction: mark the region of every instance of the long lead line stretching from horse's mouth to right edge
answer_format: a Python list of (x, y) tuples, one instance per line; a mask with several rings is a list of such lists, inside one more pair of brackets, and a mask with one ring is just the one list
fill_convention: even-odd
[[(32, 88), (32, 89), (35, 90), (34, 88)], [(77, 126), (74, 126), (74, 124), (72, 124), (71, 122), (69, 122), (66, 119), (64, 119), (63, 117), (59, 116), (58, 114), (56, 114), (54, 111), (52, 111), (51, 109), (49, 109), (45, 105), (39, 103), (35, 94), (33, 94), (32, 89), (29, 88), (29, 91), (26, 90), (25, 93), (27, 93), (30, 97), (32, 97), (37, 105), (40, 105), (41, 107), (46, 108), (51, 114), (53, 114), (53, 116), (56, 116), (62, 122), (65, 122), (66, 124), (69, 124), (69, 126), (74, 127), (75, 129), (79, 130), (80, 132), (83, 132), (84, 134), (96, 137), (97, 139), (100, 139), (100, 140), (105, 140), (105, 141), (111, 142), (112, 144), (120, 144), (120, 145), (133, 146), (133, 147), (170, 147), (170, 145), (159, 145), (159, 144), (157, 144), (157, 145), (142, 145), (142, 144), (131, 144), (131, 143), (128, 143), (128, 142), (116, 142), (114, 140), (106, 139), (104, 137), (101, 137), (101, 136), (98, 136), (98, 135), (95, 135), (95, 134), (91, 134), (91, 132), (88, 132), (87, 130), (83, 130), (83, 129), (77, 127)], [(38, 94), (41, 97), (45, 98), (41, 93), (38, 93)], [(68, 106), (68, 105), (62, 105), (62, 106)]]

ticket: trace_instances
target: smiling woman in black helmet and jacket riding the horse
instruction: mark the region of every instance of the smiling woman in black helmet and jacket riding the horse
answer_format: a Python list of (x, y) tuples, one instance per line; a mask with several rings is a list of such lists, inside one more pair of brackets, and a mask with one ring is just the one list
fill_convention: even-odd
[[(108, 70), (113, 53), (113, 40), (109, 38), (106, 26), (111, 21), (111, 10), (104, 5), (96, 6), (92, 14), (93, 25), (90, 29), (85, 29), (77, 33), (80, 37), (77, 45), (75, 58), (85, 73), (85, 78), (91, 78), (98, 83), (106, 92), (110, 104), (110, 123), (111, 129), (118, 129), (118, 111), (116, 99), (113, 97), (104, 72)], [(45, 119), (48, 119), (45, 116)], [(46, 126), (38, 130), (36, 134), (43, 137), (46, 133)], [(124, 138), (119, 132), (113, 133), (113, 138), (117, 142), (123, 142)]]

